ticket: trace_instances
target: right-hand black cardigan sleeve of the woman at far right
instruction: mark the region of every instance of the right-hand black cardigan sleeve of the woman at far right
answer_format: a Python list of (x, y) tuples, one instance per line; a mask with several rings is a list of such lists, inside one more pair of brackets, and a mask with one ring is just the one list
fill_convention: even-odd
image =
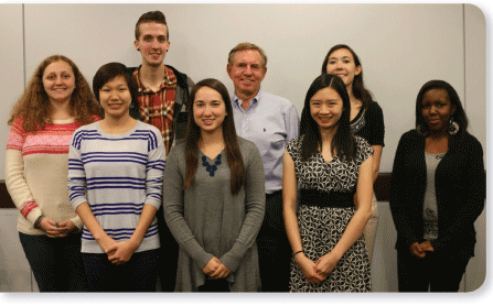
[(467, 199), (467, 205), (459, 205), (456, 216), (457, 220), (453, 226), (447, 231), (440, 232), (440, 236), (431, 244), (436, 251), (444, 249), (446, 247), (456, 245), (457, 238), (467, 232), (468, 227), (474, 225), (474, 221), (484, 209), (484, 201), (486, 198), (486, 174), (483, 162), (483, 147), (481, 143), (473, 139), (467, 145), (467, 151), (463, 154), (467, 157), (467, 163), (463, 165), (468, 168), (467, 176), (463, 178), (464, 193), (462, 198)]

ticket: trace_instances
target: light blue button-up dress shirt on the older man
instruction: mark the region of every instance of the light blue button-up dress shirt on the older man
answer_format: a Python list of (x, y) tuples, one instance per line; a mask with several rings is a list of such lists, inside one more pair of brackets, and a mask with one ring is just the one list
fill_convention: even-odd
[(260, 151), (266, 173), (266, 193), (282, 189), (282, 156), (286, 144), (298, 136), (300, 119), (294, 106), (260, 88), (244, 110), (242, 100), (232, 98), (236, 133), (254, 142)]

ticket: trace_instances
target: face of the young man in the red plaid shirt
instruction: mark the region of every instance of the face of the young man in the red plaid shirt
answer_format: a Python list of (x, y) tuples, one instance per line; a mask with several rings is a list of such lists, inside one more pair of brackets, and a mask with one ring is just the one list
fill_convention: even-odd
[(133, 42), (137, 51), (142, 55), (142, 64), (160, 66), (164, 61), (170, 42), (168, 41), (168, 28), (162, 23), (147, 22), (139, 25), (140, 36)]

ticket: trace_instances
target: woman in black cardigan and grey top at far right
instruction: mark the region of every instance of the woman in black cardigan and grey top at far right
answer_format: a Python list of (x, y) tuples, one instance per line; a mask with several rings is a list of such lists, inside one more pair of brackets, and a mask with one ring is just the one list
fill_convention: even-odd
[(400, 292), (457, 292), (484, 208), (483, 150), (448, 83), (425, 84), (416, 129), (399, 141), (390, 186)]

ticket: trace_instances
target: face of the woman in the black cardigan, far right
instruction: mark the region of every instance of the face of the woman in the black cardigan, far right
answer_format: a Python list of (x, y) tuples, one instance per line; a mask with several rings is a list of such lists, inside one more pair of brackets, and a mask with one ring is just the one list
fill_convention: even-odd
[(421, 114), (431, 132), (444, 133), (456, 107), (450, 103), (444, 89), (430, 89), (421, 100)]

